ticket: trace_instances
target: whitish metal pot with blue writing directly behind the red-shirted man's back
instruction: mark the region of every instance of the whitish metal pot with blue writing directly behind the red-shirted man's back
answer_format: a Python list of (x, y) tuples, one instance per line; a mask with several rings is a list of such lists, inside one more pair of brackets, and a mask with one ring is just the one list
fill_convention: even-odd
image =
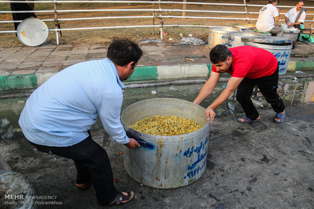
[(287, 72), (288, 62), (291, 55), (292, 43), (289, 39), (274, 36), (242, 37), (245, 45), (251, 45), (270, 51), (277, 59), (279, 75)]

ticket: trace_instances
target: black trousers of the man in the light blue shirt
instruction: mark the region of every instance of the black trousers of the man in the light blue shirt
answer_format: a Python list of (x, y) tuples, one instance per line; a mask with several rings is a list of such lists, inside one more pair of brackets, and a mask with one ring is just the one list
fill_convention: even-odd
[(38, 151), (56, 154), (74, 161), (77, 184), (93, 182), (100, 205), (109, 204), (117, 195), (107, 152), (89, 136), (72, 146), (44, 146), (30, 142)]

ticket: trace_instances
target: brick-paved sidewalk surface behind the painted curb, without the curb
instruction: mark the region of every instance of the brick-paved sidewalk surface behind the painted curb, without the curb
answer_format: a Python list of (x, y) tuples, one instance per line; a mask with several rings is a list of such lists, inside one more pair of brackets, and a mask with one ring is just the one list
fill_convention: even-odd
[[(144, 55), (138, 67), (161, 65), (208, 64), (210, 48), (207, 45), (141, 44)], [(15, 47), (0, 50), (0, 76), (57, 73), (64, 68), (107, 55), (108, 46), (55, 45)], [(297, 42), (291, 51), (291, 61), (314, 61), (314, 46)], [(185, 60), (185, 58), (192, 59)]]

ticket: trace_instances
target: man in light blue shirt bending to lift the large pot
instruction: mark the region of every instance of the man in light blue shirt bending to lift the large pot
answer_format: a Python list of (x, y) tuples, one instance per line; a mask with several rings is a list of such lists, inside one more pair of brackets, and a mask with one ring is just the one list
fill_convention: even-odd
[(126, 135), (120, 122), (121, 82), (127, 80), (143, 55), (127, 39), (115, 39), (107, 58), (72, 65), (38, 87), (27, 99), (19, 124), (27, 140), (39, 151), (72, 159), (75, 185), (93, 184), (100, 205), (121, 204), (134, 192), (117, 192), (106, 151), (89, 132), (99, 116), (105, 131), (129, 148), (140, 144)]

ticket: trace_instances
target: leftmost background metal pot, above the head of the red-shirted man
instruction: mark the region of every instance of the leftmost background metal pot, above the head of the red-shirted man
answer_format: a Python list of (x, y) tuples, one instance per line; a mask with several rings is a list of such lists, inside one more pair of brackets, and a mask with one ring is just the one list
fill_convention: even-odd
[(208, 45), (213, 48), (217, 44), (227, 45), (229, 32), (240, 32), (241, 29), (233, 27), (213, 27), (209, 29)]

